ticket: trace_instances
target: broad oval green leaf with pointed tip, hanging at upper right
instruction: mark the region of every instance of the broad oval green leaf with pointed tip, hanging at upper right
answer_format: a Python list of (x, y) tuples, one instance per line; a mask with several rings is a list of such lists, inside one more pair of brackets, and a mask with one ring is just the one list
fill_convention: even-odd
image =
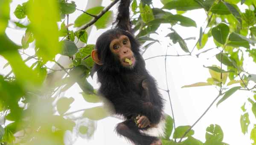
[(218, 43), (225, 44), (229, 30), (226, 24), (220, 23), (218, 26), (212, 28), (212, 36)]

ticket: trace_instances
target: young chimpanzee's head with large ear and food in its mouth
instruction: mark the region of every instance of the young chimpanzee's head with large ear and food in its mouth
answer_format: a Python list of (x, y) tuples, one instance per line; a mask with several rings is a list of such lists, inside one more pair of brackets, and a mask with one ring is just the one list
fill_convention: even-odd
[(103, 71), (132, 70), (140, 58), (140, 44), (131, 33), (118, 28), (100, 35), (95, 47), (91, 56)]

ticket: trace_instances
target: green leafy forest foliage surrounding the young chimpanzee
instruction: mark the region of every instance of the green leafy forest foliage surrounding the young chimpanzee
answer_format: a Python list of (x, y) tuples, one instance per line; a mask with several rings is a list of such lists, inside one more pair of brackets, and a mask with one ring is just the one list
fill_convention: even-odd
[[(193, 52), (197, 49), (200, 53), (196, 56), (199, 57), (201, 53), (218, 49), (215, 58), (219, 64), (204, 66), (211, 77), (206, 78), (205, 82), (185, 85), (183, 88), (216, 87), (218, 96), (212, 104), (217, 106), (228, 101), (237, 91), (255, 93), (241, 107), (244, 113), (241, 114), (240, 123), (241, 132), (250, 133), (252, 145), (256, 145), (256, 122), (249, 119), (249, 112), (256, 116), (256, 74), (244, 70), (245, 55), (256, 63), (256, 1), (160, 1), (163, 3), (162, 8), (155, 8), (151, 0), (132, 0), (131, 3), (135, 37), (143, 45), (143, 53), (152, 44), (159, 43), (159, 40), (150, 36), (163, 23), (169, 24), (171, 30), (166, 35), (170, 38), (169, 43), (179, 44), (183, 55), (195, 55)], [(112, 0), (112, 3), (116, 2), (118, 0)], [(28, 0), (15, 8), (14, 14), (20, 21), (12, 21), (10, 3), (11, 0), (0, 1), (0, 56), (8, 61), (4, 68), (12, 68), (7, 75), (0, 75), (0, 143), (61, 145), (64, 144), (63, 138), (67, 131), (76, 131), (79, 136), (90, 138), (96, 128), (96, 121), (109, 116), (108, 111), (102, 106), (93, 107), (82, 110), (79, 118), (72, 118), (68, 110), (76, 98), (59, 97), (59, 93), (77, 83), (85, 101), (101, 102), (96, 90), (87, 81), (93, 67), (90, 52), (94, 49), (94, 44), (87, 44), (90, 37), (87, 29), (92, 26), (96, 29), (110, 26), (113, 11), (97, 6), (84, 12), (76, 9), (76, 3), (71, 0)], [(246, 9), (241, 9), (241, 6), (246, 6)], [(195, 9), (204, 9), (206, 26), (197, 26), (194, 20), (183, 15)], [(68, 17), (76, 11), (80, 11), (81, 15), (70, 23)], [(96, 20), (95, 23), (90, 23), (93, 20)], [(7, 37), (5, 30), (10, 24), (15, 25), (15, 29), (25, 30), (20, 40), (21, 46)], [(195, 40), (195, 47), (187, 46), (187, 39), (173, 28), (175, 25), (200, 28), (196, 34), (199, 38)], [(75, 31), (69, 29), (70, 26), (80, 29)], [(211, 37), (213, 39), (209, 39)], [(210, 40), (214, 41), (215, 48), (207, 48), (207, 41)], [(78, 48), (78, 41), (83, 42), (84, 46)], [(24, 50), (28, 48), (35, 49), (35, 54), (26, 54)], [(72, 60), (70, 67), (61, 66), (55, 60), (56, 55), (68, 56)], [(33, 64), (28, 66), (26, 62), (29, 61), (33, 61)], [(59, 65), (61, 70), (47, 66), (49, 61)], [(58, 71), (66, 74), (52, 83), (50, 80)], [(245, 108), (245, 104), (250, 104), (251, 108)], [(195, 124), (175, 127), (173, 116), (167, 115), (165, 133), (160, 136), (163, 145), (228, 145), (228, 142), (223, 142), (224, 132), (219, 125), (212, 124), (206, 128), (205, 142), (195, 139), (192, 128)], [(248, 130), (249, 125), (253, 126), (251, 130)]]

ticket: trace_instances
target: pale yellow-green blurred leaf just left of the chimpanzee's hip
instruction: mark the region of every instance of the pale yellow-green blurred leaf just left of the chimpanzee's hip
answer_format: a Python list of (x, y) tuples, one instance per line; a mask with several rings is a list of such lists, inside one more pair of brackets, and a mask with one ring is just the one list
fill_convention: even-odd
[(84, 110), (83, 116), (92, 120), (101, 120), (108, 117), (110, 113), (103, 106), (93, 107)]

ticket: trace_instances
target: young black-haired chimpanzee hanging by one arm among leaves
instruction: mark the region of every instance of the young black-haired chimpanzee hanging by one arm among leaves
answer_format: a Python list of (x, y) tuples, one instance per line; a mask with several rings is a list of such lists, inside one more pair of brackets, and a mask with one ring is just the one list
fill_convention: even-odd
[(140, 44), (131, 34), (130, 0), (121, 0), (116, 27), (96, 41), (91, 56), (95, 61), (91, 75), (97, 72), (99, 94), (125, 118), (116, 132), (136, 145), (162, 145), (160, 139), (143, 133), (155, 127), (163, 116), (163, 99), (154, 78), (145, 69)]

